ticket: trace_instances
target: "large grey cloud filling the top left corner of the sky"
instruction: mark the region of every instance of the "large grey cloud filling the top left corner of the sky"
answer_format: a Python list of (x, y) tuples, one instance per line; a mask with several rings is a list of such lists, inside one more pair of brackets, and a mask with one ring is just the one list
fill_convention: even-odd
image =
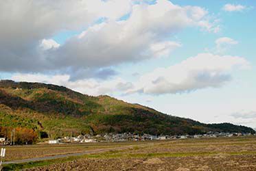
[(131, 5), (129, 0), (0, 1), (0, 70), (59, 70), (48, 62), (48, 53), (38, 49), (42, 40), (80, 31), (100, 18), (119, 18), (130, 12)]

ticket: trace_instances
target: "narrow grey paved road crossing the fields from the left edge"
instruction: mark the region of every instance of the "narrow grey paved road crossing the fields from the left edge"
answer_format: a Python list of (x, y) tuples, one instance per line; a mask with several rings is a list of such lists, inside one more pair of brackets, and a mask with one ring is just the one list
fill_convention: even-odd
[(124, 150), (130, 148), (132, 146), (122, 146), (122, 147), (115, 147), (115, 148), (106, 148), (106, 149), (97, 149), (97, 150), (87, 150), (82, 153), (71, 153), (66, 155), (53, 155), (53, 156), (46, 156), (46, 157), (35, 157), (31, 159), (19, 159), (13, 161), (5, 161), (3, 164), (13, 164), (13, 163), (27, 163), (30, 161), (43, 161), (48, 159), (59, 159), (64, 157), (71, 157), (71, 156), (79, 156), (79, 155), (87, 155), (87, 154), (97, 154), (97, 153), (104, 153), (110, 150)]

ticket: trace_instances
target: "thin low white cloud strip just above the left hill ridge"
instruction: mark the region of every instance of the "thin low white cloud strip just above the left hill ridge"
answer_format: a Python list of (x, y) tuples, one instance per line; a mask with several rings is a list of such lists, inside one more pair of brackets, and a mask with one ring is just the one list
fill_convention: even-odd
[(11, 77), (14, 81), (51, 83), (65, 86), (72, 90), (93, 96), (113, 93), (123, 94), (124, 91), (133, 87), (132, 83), (124, 79), (115, 78), (112, 80), (99, 81), (97, 79), (80, 79), (70, 81), (69, 75), (42, 75), (42, 74), (21, 74), (16, 73)]

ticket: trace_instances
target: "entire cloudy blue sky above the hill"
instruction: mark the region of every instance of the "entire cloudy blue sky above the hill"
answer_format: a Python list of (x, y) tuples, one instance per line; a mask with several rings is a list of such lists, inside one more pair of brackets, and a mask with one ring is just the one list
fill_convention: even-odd
[(0, 1), (0, 79), (256, 128), (254, 0)]

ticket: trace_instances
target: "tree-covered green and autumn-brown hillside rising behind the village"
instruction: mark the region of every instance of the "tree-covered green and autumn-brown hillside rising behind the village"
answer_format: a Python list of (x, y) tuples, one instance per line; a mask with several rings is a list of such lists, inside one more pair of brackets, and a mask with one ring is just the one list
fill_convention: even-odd
[(80, 133), (196, 134), (207, 131), (251, 132), (233, 124), (203, 124), (162, 114), (110, 96), (88, 96), (63, 86), (0, 81), (0, 134), (13, 128), (34, 136)]

